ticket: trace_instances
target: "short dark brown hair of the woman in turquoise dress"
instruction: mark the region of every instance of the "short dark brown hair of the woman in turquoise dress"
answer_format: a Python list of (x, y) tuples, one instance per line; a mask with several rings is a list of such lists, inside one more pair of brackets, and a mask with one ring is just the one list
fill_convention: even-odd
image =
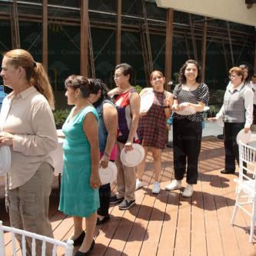
[(81, 96), (83, 98), (88, 98), (91, 94), (93, 85), (84, 76), (69, 75), (68, 78), (65, 80), (65, 88), (68, 87), (73, 88), (74, 90), (79, 88), (81, 91)]

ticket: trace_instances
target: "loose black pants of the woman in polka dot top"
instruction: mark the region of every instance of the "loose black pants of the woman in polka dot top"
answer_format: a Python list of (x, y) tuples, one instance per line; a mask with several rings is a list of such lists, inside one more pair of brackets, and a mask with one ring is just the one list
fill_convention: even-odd
[(175, 179), (182, 180), (187, 168), (187, 183), (197, 184), (198, 157), (201, 149), (201, 121), (173, 121)]

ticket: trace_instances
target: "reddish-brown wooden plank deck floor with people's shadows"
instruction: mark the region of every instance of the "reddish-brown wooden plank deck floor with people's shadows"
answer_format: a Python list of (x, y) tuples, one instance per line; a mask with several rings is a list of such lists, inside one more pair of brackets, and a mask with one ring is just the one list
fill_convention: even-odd
[[(127, 211), (120, 211), (118, 205), (110, 208), (111, 220), (95, 231), (96, 245), (91, 255), (256, 255), (255, 244), (248, 243), (248, 216), (238, 210), (234, 226), (229, 224), (237, 176), (221, 175), (223, 167), (223, 141), (204, 138), (198, 185), (194, 186), (192, 198), (183, 198), (181, 191), (164, 190), (173, 178), (172, 150), (166, 148), (162, 155), (162, 190), (154, 195), (149, 153), (145, 186), (136, 191), (136, 206)], [(57, 185), (55, 179), (49, 214), (55, 238), (63, 240), (71, 235), (73, 224), (70, 217), (58, 211)], [(0, 219), (8, 224), (3, 199), (0, 205)], [(10, 252), (10, 234), (5, 234), (5, 241)], [(58, 255), (62, 253), (58, 251)]]

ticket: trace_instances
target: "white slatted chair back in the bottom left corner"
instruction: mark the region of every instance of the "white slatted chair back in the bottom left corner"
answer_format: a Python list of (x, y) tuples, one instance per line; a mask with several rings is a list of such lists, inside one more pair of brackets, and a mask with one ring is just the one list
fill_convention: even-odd
[[(16, 248), (16, 241), (15, 241), (15, 234), (22, 235), (22, 255), (26, 254), (26, 246), (25, 246), (25, 238), (32, 238), (32, 256), (35, 256), (35, 240), (42, 241), (42, 254), (41, 256), (45, 256), (46, 253), (46, 242), (49, 244), (52, 244), (52, 256), (57, 255), (57, 247), (62, 247), (65, 249), (65, 256), (72, 256), (73, 253), (73, 241), (68, 240), (67, 242), (59, 241), (54, 238), (48, 238), (41, 234), (35, 234), (32, 232), (24, 231), (18, 228), (10, 228), (2, 225), (2, 221), (0, 221), (0, 255), (1, 256), (7, 256), (5, 254), (5, 239), (4, 239), (4, 231), (8, 231), (12, 233), (12, 255), (16, 255), (16, 251), (19, 248)], [(36, 256), (39, 256), (38, 254)]]

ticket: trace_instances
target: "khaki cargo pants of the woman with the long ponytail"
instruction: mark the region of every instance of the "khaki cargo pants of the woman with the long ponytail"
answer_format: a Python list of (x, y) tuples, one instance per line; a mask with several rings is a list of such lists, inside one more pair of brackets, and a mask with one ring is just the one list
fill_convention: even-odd
[[(24, 229), (53, 238), (52, 225), (48, 219), (52, 178), (53, 168), (44, 162), (25, 185), (8, 189), (9, 216), (13, 228)], [(16, 235), (16, 238), (22, 248), (22, 236)], [(51, 250), (52, 246), (47, 246), (46, 255), (52, 255)], [(31, 256), (31, 238), (26, 238), (26, 251), (26, 255)], [(36, 255), (41, 255), (41, 251), (42, 243), (36, 240)]]

